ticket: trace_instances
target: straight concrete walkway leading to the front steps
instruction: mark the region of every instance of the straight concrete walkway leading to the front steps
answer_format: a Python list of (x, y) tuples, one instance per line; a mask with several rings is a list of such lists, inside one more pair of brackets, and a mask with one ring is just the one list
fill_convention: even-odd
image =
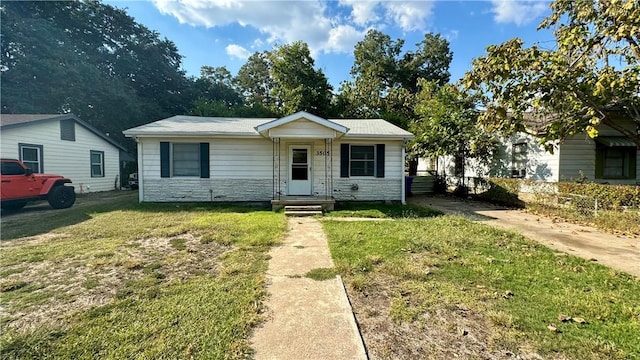
[(268, 320), (254, 332), (255, 358), (366, 359), (342, 280), (304, 276), (333, 267), (320, 222), (290, 218), (284, 243), (270, 255)]

